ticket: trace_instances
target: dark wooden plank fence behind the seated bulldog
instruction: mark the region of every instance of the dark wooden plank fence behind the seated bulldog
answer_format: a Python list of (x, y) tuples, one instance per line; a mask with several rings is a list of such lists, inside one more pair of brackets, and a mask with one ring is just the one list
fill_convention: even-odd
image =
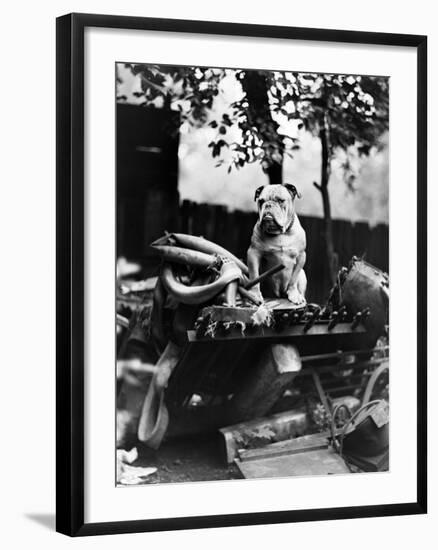
[[(166, 202), (161, 199), (159, 202), (143, 201), (144, 204), (138, 200), (132, 201), (130, 209), (126, 207), (126, 201), (119, 202), (118, 206), (118, 255), (140, 261), (145, 268), (144, 275), (157, 273), (157, 257), (152, 253), (149, 244), (163, 235), (165, 230), (202, 235), (238, 257), (246, 258), (252, 230), (257, 221), (256, 213), (228, 211), (224, 206), (190, 201), (183, 201), (178, 207), (177, 201), (167, 199)], [(172, 204), (174, 206), (170, 208)], [(300, 221), (307, 235), (307, 298), (312, 302), (322, 302), (330, 290), (324, 222), (321, 218), (311, 216), (300, 216)], [(352, 256), (360, 256), (376, 267), (389, 271), (387, 225), (370, 227), (363, 222), (334, 220), (333, 232), (339, 267), (348, 265)]]

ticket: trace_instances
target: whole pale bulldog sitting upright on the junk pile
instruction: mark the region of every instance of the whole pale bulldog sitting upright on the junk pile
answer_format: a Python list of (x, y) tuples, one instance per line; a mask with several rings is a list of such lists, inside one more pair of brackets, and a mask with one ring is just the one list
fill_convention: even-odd
[(284, 269), (262, 281), (252, 290), (259, 299), (287, 298), (295, 306), (306, 303), (306, 234), (295, 212), (294, 185), (266, 185), (255, 192), (258, 221), (247, 253), (249, 278), (283, 264)]

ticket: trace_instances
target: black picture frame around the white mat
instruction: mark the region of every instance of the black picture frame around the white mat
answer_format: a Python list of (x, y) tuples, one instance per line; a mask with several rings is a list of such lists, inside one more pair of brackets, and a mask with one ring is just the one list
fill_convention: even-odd
[[(84, 30), (87, 27), (407, 46), (417, 52), (417, 498), (415, 502), (219, 516), (84, 522)], [(423, 514), (427, 510), (427, 37), (68, 14), (57, 19), (56, 529), (70, 536)]]

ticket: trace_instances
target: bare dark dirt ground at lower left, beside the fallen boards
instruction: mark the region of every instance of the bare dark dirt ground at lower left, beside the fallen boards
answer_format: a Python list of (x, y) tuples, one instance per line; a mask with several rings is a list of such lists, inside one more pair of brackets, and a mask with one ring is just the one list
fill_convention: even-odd
[(145, 484), (241, 479), (238, 468), (225, 463), (221, 445), (213, 434), (167, 441), (158, 451), (139, 447), (134, 466), (157, 468)]

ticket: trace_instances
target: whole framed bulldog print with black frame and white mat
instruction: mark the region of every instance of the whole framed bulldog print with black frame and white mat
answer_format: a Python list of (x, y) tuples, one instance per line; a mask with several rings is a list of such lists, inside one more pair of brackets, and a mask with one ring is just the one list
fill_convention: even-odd
[(426, 56), (58, 18), (58, 531), (426, 512)]

